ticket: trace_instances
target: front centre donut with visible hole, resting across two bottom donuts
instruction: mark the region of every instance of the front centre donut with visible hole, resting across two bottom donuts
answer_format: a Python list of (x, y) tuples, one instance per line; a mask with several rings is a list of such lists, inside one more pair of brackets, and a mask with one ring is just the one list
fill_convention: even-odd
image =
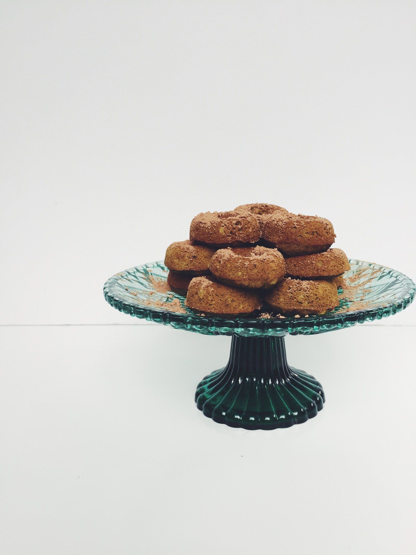
[(264, 246), (217, 250), (210, 270), (219, 281), (236, 287), (271, 287), (285, 276), (285, 259)]

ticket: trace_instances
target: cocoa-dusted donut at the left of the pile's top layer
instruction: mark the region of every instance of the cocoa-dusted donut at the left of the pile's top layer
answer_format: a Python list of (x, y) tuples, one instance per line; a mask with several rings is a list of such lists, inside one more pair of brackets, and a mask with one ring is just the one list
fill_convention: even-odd
[(211, 246), (243, 246), (260, 239), (260, 226), (248, 212), (205, 212), (191, 221), (189, 238)]

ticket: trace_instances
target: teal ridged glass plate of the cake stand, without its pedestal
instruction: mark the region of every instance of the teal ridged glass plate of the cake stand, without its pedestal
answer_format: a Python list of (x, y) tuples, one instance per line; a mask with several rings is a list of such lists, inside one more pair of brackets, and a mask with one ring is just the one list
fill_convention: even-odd
[[(400, 312), (413, 301), (415, 284), (407, 276), (362, 260), (352, 259), (350, 263), (351, 270), (344, 278), (347, 285), (353, 287), (353, 298), (340, 297), (340, 305), (322, 316), (285, 319), (200, 316), (187, 309), (185, 297), (166, 292), (168, 269), (162, 261), (114, 275), (105, 282), (104, 296), (111, 306), (130, 316), (200, 334), (244, 337), (319, 334), (380, 320)], [(175, 305), (177, 308), (179, 304), (183, 312), (176, 311)]]

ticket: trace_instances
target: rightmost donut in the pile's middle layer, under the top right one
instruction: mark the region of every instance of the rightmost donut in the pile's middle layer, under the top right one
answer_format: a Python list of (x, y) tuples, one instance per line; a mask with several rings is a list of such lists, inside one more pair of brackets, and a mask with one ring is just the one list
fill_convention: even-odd
[(341, 249), (286, 258), (286, 273), (295, 278), (334, 278), (350, 268), (347, 255)]

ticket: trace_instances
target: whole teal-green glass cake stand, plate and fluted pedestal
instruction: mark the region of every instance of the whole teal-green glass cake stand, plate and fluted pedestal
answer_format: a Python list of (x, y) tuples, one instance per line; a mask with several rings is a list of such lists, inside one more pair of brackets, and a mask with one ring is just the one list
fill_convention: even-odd
[(104, 284), (104, 297), (130, 316), (198, 334), (231, 335), (230, 359), (197, 385), (196, 406), (215, 422), (273, 430), (306, 422), (325, 402), (321, 384), (288, 365), (285, 335), (322, 334), (380, 320), (414, 299), (415, 284), (407, 276), (362, 260), (350, 263), (344, 278), (353, 288), (353, 298), (342, 299), (322, 316), (259, 319), (198, 314), (184, 305), (185, 297), (166, 292), (168, 269), (162, 261), (114, 275)]

